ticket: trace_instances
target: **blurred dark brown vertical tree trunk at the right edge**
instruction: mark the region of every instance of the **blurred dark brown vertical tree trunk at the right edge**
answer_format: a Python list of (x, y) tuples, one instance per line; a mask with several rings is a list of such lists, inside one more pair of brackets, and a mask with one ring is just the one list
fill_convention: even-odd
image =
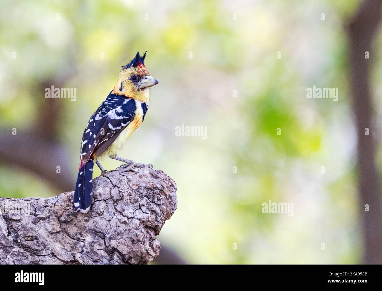
[[(358, 136), (358, 171), (360, 213), (364, 232), (364, 264), (382, 264), (382, 214), (380, 175), (376, 165), (376, 144), (373, 130), (372, 99), (369, 75), (372, 56), (372, 41), (381, 19), (381, 1), (366, 0), (350, 22), (350, 81), (353, 108), (356, 115)], [(371, 58), (365, 58), (369, 52)], [(369, 128), (371, 135), (365, 135)], [(370, 206), (366, 212), (365, 204)]]

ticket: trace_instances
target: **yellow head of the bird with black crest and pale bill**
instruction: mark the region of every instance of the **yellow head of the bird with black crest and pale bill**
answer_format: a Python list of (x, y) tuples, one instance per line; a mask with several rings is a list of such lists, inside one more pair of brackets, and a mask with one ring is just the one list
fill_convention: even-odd
[(158, 84), (158, 81), (152, 78), (144, 65), (146, 52), (143, 56), (136, 54), (135, 58), (125, 66), (118, 76), (113, 93), (125, 95), (126, 97), (138, 99), (142, 102), (149, 100), (149, 87)]

